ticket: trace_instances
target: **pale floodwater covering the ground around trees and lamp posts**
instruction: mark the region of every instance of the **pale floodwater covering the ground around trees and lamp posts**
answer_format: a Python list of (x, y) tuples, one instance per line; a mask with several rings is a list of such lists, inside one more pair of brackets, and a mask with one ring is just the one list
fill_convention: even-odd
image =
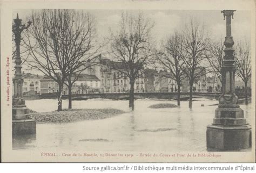
[[(101, 119), (69, 123), (37, 123), (35, 136), (23, 136), (13, 141), (14, 149), (98, 151), (206, 151), (206, 127), (214, 118), (217, 100), (200, 99), (181, 102), (181, 107), (151, 109), (157, 103), (173, 103), (170, 100), (135, 100), (135, 110), (129, 110), (128, 100), (90, 99), (72, 102), (74, 109), (116, 108), (126, 113)], [(204, 106), (201, 106), (204, 104)], [(54, 111), (57, 100), (28, 100), (26, 105), (37, 112)], [(68, 100), (63, 100), (63, 108)], [(248, 122), (251, 105), (240, 105)]]

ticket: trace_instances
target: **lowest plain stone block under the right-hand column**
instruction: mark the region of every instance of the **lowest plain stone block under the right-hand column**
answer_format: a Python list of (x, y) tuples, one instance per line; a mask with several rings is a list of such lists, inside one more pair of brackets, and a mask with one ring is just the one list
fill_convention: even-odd
[(208, 125), (206, 141), (208, 151), (251, 148), (252, 128), (250, 125)]

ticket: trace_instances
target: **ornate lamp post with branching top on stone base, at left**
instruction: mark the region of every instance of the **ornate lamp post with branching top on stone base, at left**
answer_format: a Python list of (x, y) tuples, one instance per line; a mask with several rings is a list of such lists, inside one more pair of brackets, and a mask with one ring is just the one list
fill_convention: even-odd
[(15, 57), (15, 75), (12, 79), (14, 83), (14, 96), (12, 98), (12, 135), (17, 134), (35, 134), (36, 133), (36, 121), (32, 120), (29, 115), (29, 109), (25, 105), (23, 99), (22, 86), (22, 60), (20, 56), (20, 44), (21, 44), (21, 33), (31, 25), (31, 21), (28, 25), (22, 24), (22, 19), (14, 19), (14, 26), (12, 28), (15, 34), (16, 44), (16, 57)]

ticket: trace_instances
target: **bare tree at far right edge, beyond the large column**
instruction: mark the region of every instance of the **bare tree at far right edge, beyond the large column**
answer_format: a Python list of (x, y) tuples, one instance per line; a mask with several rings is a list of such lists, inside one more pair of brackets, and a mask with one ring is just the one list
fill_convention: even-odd
[(252, 67), (251, 67), (251, 47), (248, 41), (239, 42), (235, 48), (235, 60), (237, 63), (236, 74), (239, 76), (242, 81), (245, 83), (245, 104), (248, 104), (247, 88), (248, 81), (252, 76)]

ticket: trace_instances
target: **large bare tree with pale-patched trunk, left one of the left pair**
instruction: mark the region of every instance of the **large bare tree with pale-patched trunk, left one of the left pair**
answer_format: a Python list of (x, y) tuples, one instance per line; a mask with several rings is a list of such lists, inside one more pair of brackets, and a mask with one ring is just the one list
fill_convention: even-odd
[(87, 32), (91, 31), (83, 26), (86, 17), (82, 12), (66, 9), (32, 12), (32, 26), (26, 34), (30, 57), (26, 62), (31, 69), (58, 83), (58, 111), (62, 111), (62, 91), (71, 74), (69, 68), (73, 62), (81, 61), (86, 52), (84, 43), (90, 35)]

